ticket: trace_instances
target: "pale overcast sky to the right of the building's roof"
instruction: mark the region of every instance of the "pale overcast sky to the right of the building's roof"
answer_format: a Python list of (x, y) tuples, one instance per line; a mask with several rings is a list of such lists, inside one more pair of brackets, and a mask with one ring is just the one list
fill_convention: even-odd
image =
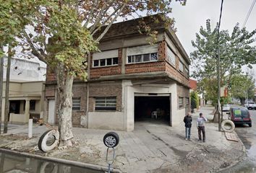
[[(232, 31), (237, 22), (242, 27), (252, 1), (224, 0), (221, 30)], [(205, 27), (206, 19), (210, 19), (212, 25), (216, 25), (220, 11), (221, 0), (187, 0), (186, 6), (182, 6), (179, 2), (174, 1), (171, 17), (174, 17), (176, 21), (176, 35), (179, 37), (188, 55), (194, 50), (191, 40), (195, 40), (195, 33), (199, 32), (200, 26)], [(256, 4), (252, 9), (245, 27), (250, 32), (256, 29)], [(243, 69), (253, 74), (256, 79), (256, 64), (253, 65), (252, 70), (249, 70), (247, 67), (243, 67)]]

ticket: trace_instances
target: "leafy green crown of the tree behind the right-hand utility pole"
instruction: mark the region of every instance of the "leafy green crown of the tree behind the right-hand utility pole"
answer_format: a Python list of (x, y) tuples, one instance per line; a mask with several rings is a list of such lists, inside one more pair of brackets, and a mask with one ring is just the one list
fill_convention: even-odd
[[(248, 32), (245, 27), (240, 28), (236, 24), (231, 33), (221, 30), (219, 44), (217, 44), (218, 24), (211, 27), (210, 19), (206, 21), (206, 27), (200, 27), (196, 33), (192, 46), (195, 50), (190, 54), (192, 59), (192, 76), (199, 81), (200, 88), (206, 91), (206, 97), (217, 100), (217, 45), (220, 49), (220, 79), (221, 86), (229, 86), (232, 76), (241, 73), (241, 67), (256, 63), (255, 32)], [(214, 102), (217, 103), (217, 102)]]

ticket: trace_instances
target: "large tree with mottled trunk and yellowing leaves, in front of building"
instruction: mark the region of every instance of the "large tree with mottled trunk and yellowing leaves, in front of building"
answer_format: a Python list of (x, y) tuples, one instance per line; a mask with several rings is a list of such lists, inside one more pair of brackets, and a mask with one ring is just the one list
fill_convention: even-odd
[[(185, 4), (186, 0), (176, 1)], [(25, 21), (25, 25), (18, 23), (19, 30), (12, 34), (19, 38), (23, 52), (38, 57), (56, 74), (61, 101), (58, 110), (61, 144), (68, 146), (73, 138), (73, 79), (86, 80), (87, 57), (98, 50), (98, 43), (111, 25), (118, 18), (127, 19), (138, 12), (163, 16), (171, 12), (170, 0), (0, 0), (1, 6), (10, 8), (4, 11), (5, 19)], [(173, 20), (166, 22), (171, 25)], [(12, 29), (5, 28), (4, 32)], [(4, 32), (0, 30), (0, 34)], [(140, 32), (155, 34), (143, 23)]]

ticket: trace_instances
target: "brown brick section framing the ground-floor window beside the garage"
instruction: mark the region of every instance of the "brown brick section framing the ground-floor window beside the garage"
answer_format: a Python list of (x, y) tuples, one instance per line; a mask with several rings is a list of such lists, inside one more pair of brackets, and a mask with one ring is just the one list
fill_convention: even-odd
[(95, 97), (116, 97), (116, 111), (121, 112), (122, 86), (121, 82), (93, 83), (89, 90), (89, 111), (94, 111)]

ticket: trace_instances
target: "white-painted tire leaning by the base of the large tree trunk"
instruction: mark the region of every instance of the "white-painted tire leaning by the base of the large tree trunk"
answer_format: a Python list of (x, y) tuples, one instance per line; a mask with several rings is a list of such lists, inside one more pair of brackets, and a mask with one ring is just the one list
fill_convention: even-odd
[[(49, 138), (54, 137), (54, 141), (50, 143), (49, 145), (47, 144), (47, 141)], [(54, 149), (59, 143), (59, 131), (58, 130), (47, 130), (43, 135), (40, 137), (38, 141), (38, 148), (40, 151), (51, 151)]]

